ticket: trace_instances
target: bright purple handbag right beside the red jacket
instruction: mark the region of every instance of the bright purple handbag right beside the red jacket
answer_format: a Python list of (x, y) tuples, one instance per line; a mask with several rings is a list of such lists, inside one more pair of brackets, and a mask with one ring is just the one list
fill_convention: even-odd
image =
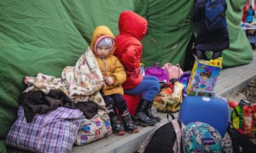
[(161, 68), (160, 63), (155, 63), (153, 67), (147, 67), (145, 69), (145, 76), (155, 76), (158, 81), (168, 81), (168, 73)]

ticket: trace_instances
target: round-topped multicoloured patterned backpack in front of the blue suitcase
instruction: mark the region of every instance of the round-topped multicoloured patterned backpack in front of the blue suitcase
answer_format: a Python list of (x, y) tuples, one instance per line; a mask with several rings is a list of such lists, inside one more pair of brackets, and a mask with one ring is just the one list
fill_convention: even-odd
[(191, 122), (182, 132), (183, 151), (221, 152), (222, 138), (211, 125), (204, 122)]

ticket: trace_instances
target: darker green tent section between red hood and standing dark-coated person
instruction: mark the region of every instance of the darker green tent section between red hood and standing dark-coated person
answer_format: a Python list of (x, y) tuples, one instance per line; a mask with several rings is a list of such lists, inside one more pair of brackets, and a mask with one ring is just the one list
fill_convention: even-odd
[(135, 12), (146, 18), (149, 25), (142, 40), (145, 67), (152, 67), (155, 62), (162, 66), (168, 62), (183, 65), (194, 28), (193, 8), (194, 1), (136, 1)]

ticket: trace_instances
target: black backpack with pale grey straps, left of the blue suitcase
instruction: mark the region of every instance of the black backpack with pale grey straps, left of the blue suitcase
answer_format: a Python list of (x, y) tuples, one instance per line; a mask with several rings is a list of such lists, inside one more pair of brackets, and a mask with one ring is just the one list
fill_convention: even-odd
[[(168, 115), (171, 116), (171, 121), (168, 119)], [(181, 153), (181, 132), (185, 128), (185, 125), (175, 119), (175, 116), (168, 114), (168, 122), (164, 122), (155, 129), (145, 142), (142, 143), (138, 152), (145, 153)]]

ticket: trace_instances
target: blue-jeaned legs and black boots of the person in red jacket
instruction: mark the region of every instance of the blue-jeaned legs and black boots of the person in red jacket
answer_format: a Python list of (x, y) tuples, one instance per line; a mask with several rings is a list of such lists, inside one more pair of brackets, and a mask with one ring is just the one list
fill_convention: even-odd
[(145, 76), (141, 83), (138, 84), (134, 89), (125, 90), (126, 94), (138, 95), (144, 93), (141, 97), (141, 101), (138, 104), (138, 108), (133, 117), (135, 125), (154, 125), (156, 119), (160, 121), (158, 116), (154, 116), (151, 112), (151, 106), (155, 96), (160, 90), (160, 84), (158, 83), (157, 77)]

